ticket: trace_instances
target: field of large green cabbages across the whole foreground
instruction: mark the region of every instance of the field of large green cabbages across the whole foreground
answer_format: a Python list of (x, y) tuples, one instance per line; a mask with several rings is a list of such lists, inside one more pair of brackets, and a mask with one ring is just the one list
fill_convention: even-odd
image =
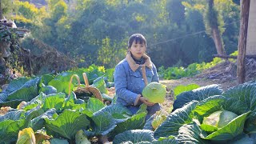
[[(84, 83), (82, 73), (103, 102), (74, 93), (78, 82), (70, 78), (78, 74)], [(170, 114), (159, 111), (148, 121), (145, 105), (132, 115), (110, 87), (113, 70), (101, 66), (13, 80), (0, 93), (0, 143), (98, 143), (102, 136), (114, 144), (256, 142), (256, 82), (182, 92)]]

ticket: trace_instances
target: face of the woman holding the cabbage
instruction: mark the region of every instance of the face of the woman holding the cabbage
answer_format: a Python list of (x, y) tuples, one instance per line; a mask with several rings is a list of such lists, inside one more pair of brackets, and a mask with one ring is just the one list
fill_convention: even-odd
[(130, 46), (130, 52), (131, 54), (133, 54), (134, 58), (136, 59), (141, 59), (142, 58), (142, 55), (145, 54), (146, 52), (146, 46), (145, 46), (145, 43), (139, 43), (136, 41), (133, 42), (133, 44)]

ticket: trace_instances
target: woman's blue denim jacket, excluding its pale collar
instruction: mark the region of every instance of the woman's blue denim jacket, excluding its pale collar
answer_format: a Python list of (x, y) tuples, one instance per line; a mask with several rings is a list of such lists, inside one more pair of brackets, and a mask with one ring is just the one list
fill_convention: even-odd
[[(147, 81), (148, 83), (158, 82), (157, 69), (153, 62), (151, 62), (151, 64), (152, 69), (146, 67)], [(118, 96), (117, 102), (121, 103), (123, 106), (134, 106), (138, 94), (142, 94), (142, 90), (145, 87), (141, 66), (134, 71), (130, 68), (127, 58), (123, 59), (115, 67), (114, 86)]]

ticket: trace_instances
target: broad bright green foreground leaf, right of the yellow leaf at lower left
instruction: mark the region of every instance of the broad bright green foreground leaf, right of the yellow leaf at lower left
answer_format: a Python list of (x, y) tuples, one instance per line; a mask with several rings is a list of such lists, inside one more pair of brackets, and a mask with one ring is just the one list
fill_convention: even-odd
[(86, 126), (90, 124), (86, 114), (80, 114), (78, 111), (71, 110), (64, 110), (55, 119), (45, 118), (45, 120), (47, 132), (54, 131), (52, 134), (57, 133), (68, 139), (74, 139), (78, 130), (86, 129)]

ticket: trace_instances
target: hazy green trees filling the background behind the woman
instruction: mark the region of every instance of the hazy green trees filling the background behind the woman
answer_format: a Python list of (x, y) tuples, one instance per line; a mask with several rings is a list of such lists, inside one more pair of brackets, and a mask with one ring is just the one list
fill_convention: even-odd
[[(29, 2), (14, 1), (14, 20), (18, 26), (30, 28), (31, 38), (54, 46), (82, 62), (82, 66), (95, 63), (113, 68), (125, 58), (127, 38), (133, 33), (146, 36), (147, 52), (157, 67), (209, 62), (216, 53), (212, 38), (206, 34), (206, 1), (46, 2), (47, 9), (44, 6), (39, 9)], [(226, 52), (230, 54), (237, 49), (239, 6), (228, 0), (214, 1), (214, 4), (214, 12), (209, 14), (215, 15), (209, 19), (218, 20)], [(23, 42), (24, 48), (33, 46), (31, 42)], [(178, 67), (174, 71), (179, 74), (170, 73), (166, 77), (182, 78), (198, 73), (193, 66), (191, 70)]]

